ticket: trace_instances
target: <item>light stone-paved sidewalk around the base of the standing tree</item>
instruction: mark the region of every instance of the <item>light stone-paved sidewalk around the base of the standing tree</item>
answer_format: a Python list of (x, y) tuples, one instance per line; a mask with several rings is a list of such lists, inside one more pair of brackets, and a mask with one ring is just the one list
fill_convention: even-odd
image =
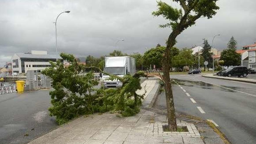
[[(158, 79), (147, 79), (141, 85), (146, 85), (147, 90), (143, 106), (150, 107), (159, 87)], [(177, 125), (187, 126), (188, 132), (163, 132), (162, 125), (167, 125), (166, 115), (144, 109), (131, 117), (117, 115), (119, 114), (96, 113), (82, 116), (29, 144), (203, 144), (198, 130), (192, 123), (177, 120)]]

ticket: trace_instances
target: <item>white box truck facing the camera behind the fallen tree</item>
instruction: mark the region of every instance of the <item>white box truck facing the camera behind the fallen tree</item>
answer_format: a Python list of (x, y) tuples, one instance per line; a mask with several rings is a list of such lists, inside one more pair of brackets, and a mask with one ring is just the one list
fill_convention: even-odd
[[(123, 77), (125, 74), (133, 76), (136, 73), (135, 59), (130, 56), (105, 57), (104, 72)], [(101, 74), (100, 74), (101, 75)], [(118, 88), (122, 82), (118, 79), (108, 80), (108, 75), (101, 75), (105, 88)]]

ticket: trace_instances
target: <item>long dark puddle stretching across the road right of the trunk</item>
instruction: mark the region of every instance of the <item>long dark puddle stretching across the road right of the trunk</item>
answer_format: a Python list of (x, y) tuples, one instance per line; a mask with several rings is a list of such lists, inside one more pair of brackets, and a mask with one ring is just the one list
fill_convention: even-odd
[[(233, 92), (235, 93), (237, 89), (237, 87), (228, 87), (228, 86), (223, 86), (223, 87), (219, 87), (219, 86), (215, 86), (213, 84), (210, 84), (210, 83), (205, 83), (203, 81), (189, 81), (189, 80), (181, 80), (181, 79), (173, 79), (175, 80), (177, 83), (179, 83), (180, 85), (183, 85), (183, 86), (191, 86), (191, 87), (197, 87), (197, 88), (203, 88), (203, 89), (219, 89), (219, 90), (222, 90), (222, 91), (225, 91), (225, 92)], [(173, 82), (173, 84), (176, 84)], [(227, 87), (227, 88), (224, 88), (224, 87)], [(231, 88), (231, 89), (234, 89), (234, 90), (231, 90), (231, 89), (228, 89), (228, 88)]]

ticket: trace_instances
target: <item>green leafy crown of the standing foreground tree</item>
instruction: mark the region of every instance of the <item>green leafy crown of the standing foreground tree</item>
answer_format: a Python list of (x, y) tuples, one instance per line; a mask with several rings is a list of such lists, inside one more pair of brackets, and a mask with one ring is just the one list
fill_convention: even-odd
[[(216, 15), (216, 6), (218, 0), (173, 0), (180, 4), (182, 9), (173, 8), (165, 2), (157, 1), (158, 9), (152, 12), (154, 16), (162, 16), (167, 19), (167, 24), (159, 25), (161, 28), (172, 27), (174, 30), (183, 31), (195, 24), (195, 21), (201, 16), (212, 18)], [(170, 47), (173, 47), (170, 46)]]

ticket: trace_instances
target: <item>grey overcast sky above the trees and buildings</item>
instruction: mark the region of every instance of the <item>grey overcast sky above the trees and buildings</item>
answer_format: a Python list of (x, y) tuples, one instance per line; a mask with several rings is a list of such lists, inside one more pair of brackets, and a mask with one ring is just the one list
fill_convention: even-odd
[[(178, 7), (171, 0), (163, 0)], [(256, 42), (256, 1), (220, 0), (212, 19), (200, 18), (195, 26), (177, 38), (176, 47), (192, 47), (221, 34), (214, 40), (218, 49), (226, 47), (233, 35), (238, 49)], [(55, 51), (57, 21), (58, 50), (76, 56), (100, 56), (117, 49), (125, 53), (143, 53), (158, 43), (165, 45), (170, 28), (161, 29), (167, 21), (153, 17), (155, 0), (1, 0), (0, 1), (0, 67), (13, 54), (31, 50)]]

